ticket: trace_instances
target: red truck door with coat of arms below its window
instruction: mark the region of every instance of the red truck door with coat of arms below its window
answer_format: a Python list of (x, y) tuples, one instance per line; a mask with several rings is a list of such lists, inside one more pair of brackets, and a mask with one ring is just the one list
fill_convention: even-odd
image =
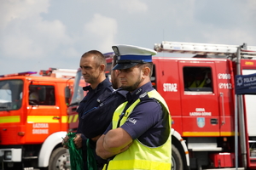
[(179, 61), (183, 136), (219, 136), (219, 103), (214, 61)]

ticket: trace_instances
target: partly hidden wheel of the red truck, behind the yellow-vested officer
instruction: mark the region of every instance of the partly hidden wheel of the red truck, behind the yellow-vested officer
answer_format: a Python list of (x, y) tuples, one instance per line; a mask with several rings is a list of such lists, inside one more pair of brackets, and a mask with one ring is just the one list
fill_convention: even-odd
[(177, 148), (172, 144), (172, 170), (183, 170), (183, 159)]

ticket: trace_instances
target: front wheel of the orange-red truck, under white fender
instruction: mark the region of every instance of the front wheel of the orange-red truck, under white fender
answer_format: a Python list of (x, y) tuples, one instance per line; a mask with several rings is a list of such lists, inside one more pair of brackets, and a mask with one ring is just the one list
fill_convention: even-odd
[(49, 158), (49, 170), (66, 170), (67, 151), (65, 148), (55, 149)]

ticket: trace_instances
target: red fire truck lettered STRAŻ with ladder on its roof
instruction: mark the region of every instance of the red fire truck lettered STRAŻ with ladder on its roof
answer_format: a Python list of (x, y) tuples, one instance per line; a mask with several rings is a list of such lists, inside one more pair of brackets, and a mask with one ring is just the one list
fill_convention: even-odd
[[(236, 75), (256, 72), (256, 47), (161, 42), (154, 49), (179, 53), (153, 57), (151, 77), (172, 115), (172, 170), (256, 169), (256, 97), (235, 94)], [(84, 81), (76, 79), (75, 86)], [(77, 103), (68, 107), (70, 131), (82, 92), (74, 88)]]

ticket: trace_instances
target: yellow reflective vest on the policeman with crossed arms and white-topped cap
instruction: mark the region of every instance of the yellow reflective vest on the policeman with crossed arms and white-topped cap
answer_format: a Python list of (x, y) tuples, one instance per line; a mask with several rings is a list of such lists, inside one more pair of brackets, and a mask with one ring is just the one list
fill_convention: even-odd
[[(172, 148), (171, 148), (171, 116), (168, 111), (165, 100), (160, 96), (156, 91), (148, 92), (149, 98), (157, 99), (164, 109), (165, 114), (168, 114), (169, 117), (169, 126), (170, 126), (170, 135), (166, 140), (166, 143), (158, 147), (148, 147), (144, 144), (141, 144), (139, 140), (133, 140), (130, 148), (124, 152), (116, 155), (112, 161), (108, 162), (108, 170), (137, 170), (137, 169), (154, 169), (154, 170), (163, 170), (171, 169), (171, 160), (172, 160)], [(131, 114), (136, 105), (140, 102), (140, 99), (137, 99), (126, 111), (125, 116), (120, 121), (120, 126), (125, 123), (127, 117)], [(117, 110), (113, 114), (113, 128), (118, 126), (119, 115), (125, 109), (127, 102), (119, 105)], [(105, 167), (106, 169), (106, 167)]]

